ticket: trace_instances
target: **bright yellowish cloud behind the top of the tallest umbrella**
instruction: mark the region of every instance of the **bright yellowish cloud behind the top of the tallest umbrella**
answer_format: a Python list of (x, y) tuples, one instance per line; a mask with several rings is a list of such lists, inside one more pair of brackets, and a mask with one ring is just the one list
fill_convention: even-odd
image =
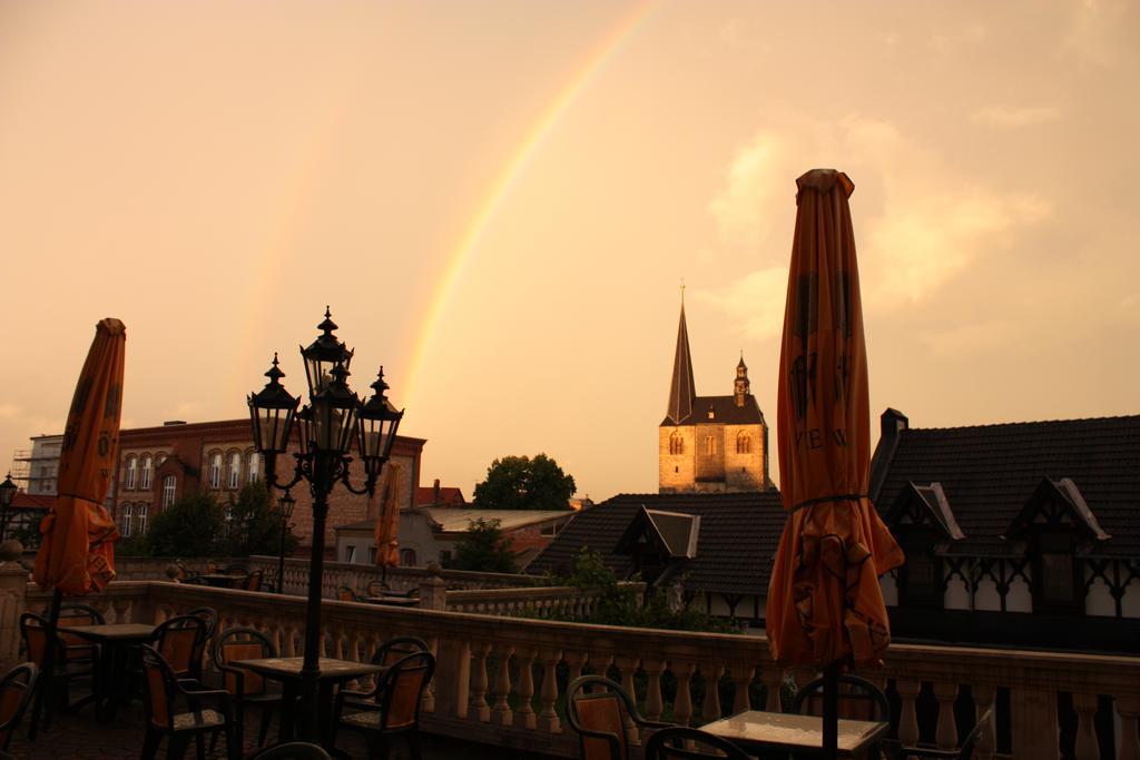
[[(806, 169), (828, 165), (855, 180), (855, 235), (869, 310), (933, 297), (1052, 210), (1035, 193), (987, 187), (964, 175), (953, 157), (914, 142), (888, 121), (853, 114), (822, 122), (784, 114), (740, 147), (709, 204), (725, 245), (756, 253), (756, 271), (708, 294), (750, 335), (772, 335), (781, 327), (783, 291), (779, 310), (768, 310), (751, 294), (776, 293), (773, 268), (787, 265), (792, 180)], [(779, 230), (773, 220), (782, 220)]]

